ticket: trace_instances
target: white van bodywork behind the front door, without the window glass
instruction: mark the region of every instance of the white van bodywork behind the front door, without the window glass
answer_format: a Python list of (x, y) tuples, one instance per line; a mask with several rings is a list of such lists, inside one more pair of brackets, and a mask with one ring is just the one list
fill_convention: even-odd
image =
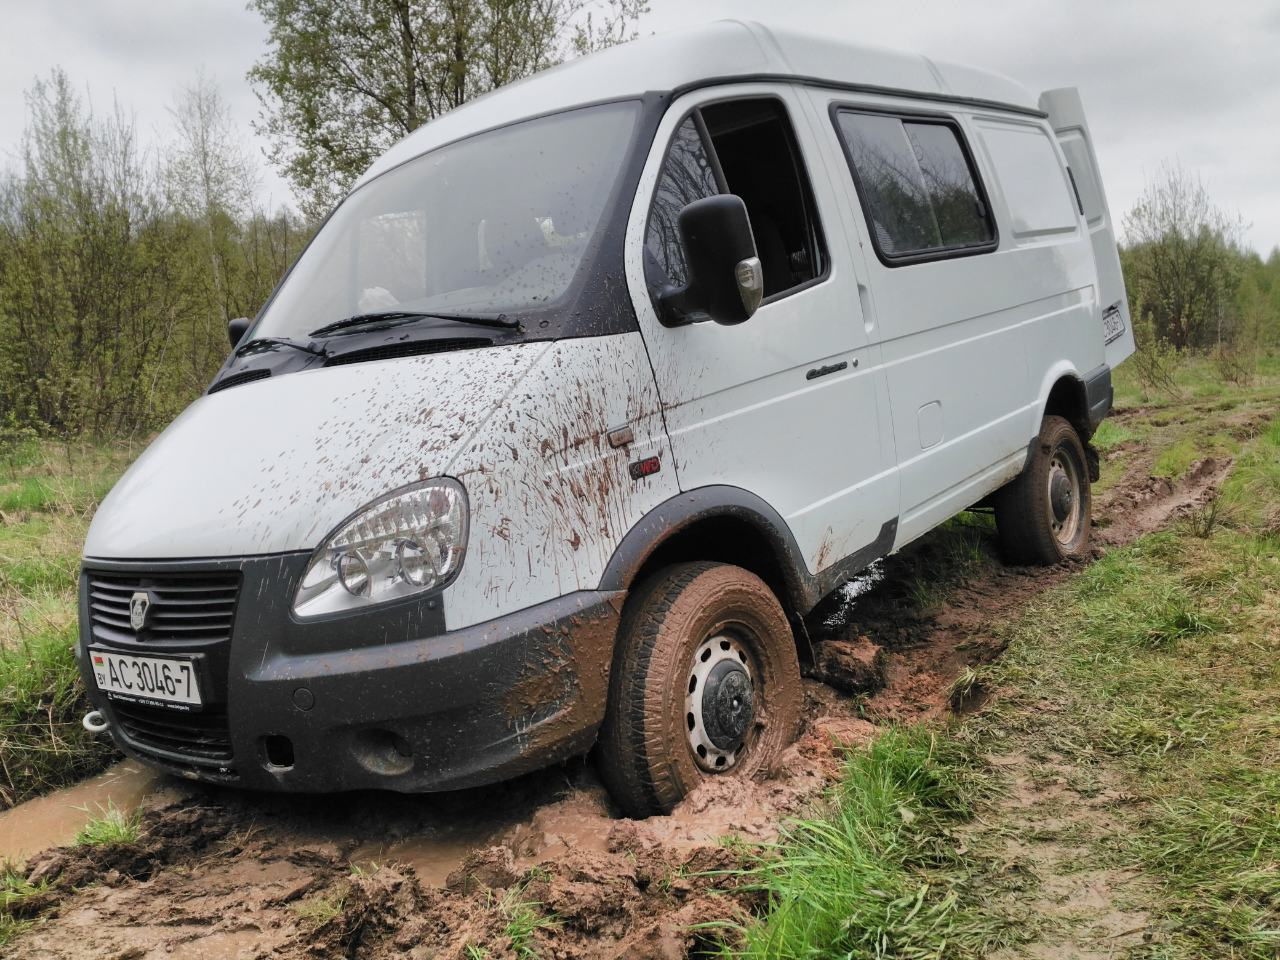
[[(986, 252), (887, 262), (874, 252), (876, 237), (850, 165), (842, 164), (845, 169), (838, 172), (846, 204), (858, 220), (858, 242), (865, 251), (860, 266), (874, 329), (882, 338), (901, 480), (896, 541), (901, 547), (1018, 475), (1038, 430), (1043, 371), (1064, 357), (1073, 367), (1085, 364), (1085, 370), (1091, 360), (1097, 362), (1079, 347), (1085, 339), (1082, 324), (1097, 314), (1092, 253), (1042, 123), (1032, 120), (1025, 131), (1015, 128), (1015, 141), (1005, 151), (1006, 165), (1037, 168), (1034, 182), (1018, 184), (1014, 216), (975, 127), (986, 111), (942, 111), (904, 97), (837, 91), (815, 91), (813, 97), (824, 115), (831, 115), (833, 106), (847, 106), (942, 116), (957, 124), (998, 233), (998, 246)], [(998, 114), (989, 119), (1025, 120)], [(837, 122), (833, 116), (826, 124), (826, 136), (831, 151), (841, 156)], [(1060, 182), (1055, 183), (1053, 175)], [(1046, 182), (1052, 195), (1041, 196)]]

